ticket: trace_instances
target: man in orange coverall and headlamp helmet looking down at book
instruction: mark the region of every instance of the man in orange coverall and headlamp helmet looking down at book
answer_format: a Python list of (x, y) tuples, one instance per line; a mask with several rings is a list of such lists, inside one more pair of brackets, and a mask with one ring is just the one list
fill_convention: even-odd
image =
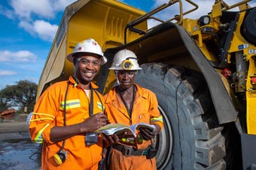
[(163, 118), (157, 109), (156, 95), (152, 91), (134, 84), (136, 70), (141, 69), (137, 57), (132, 51), (123, 49), (114, 55), (114, 61), (109, 70), (114, 70), (119, 85), (104, 96), (105, 114), (109, 123), (130, 126), (144, 122), (153, 124), (156, 130), (140, 128), (139, 137), (136, 139), (123, 138), (113, 145), (108, 160), (110, 170), (157, 169), (154, 158), (156, 150), (151, 148), (151, 144), (154, 136), (160, 133), (163, 127)]

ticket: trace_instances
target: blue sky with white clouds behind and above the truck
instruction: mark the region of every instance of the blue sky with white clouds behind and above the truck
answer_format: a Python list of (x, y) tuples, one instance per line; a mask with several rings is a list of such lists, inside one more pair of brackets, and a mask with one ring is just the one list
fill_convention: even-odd
[[(59, 26), (62, 13), (76, 0), (1, 0), (0, 2), (0, 89), (20, 80), (38, 84), (44, 62)], [(120, 0), (149, 11), (168, 0)], [(200, 8), (191, 13), (197, 18), (210, 11), (215, 0), (194, 0)], [(227, 0), (228, 4), (233, 1)], [(251, 6), (256, 6), (255, 1)], [(184, 8), (190, 7), (184, 2)], [(166, 19), (175, 10), (159, 14)], [(154, 25), (154, 23), (149, 23)]]

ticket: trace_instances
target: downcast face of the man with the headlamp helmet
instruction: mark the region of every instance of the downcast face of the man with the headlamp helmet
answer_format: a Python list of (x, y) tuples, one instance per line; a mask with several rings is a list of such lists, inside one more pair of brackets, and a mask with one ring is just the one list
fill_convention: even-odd
[(123, 90), (130, 88), (134, 84), (135, 74), (135, 70), (117, 70), (119, 87)]

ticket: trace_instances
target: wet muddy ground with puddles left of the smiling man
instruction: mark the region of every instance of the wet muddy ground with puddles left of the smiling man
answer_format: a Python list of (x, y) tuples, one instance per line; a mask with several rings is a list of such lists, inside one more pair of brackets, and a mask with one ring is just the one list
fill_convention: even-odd
[(0, 170), (14, 169), (41, 169), (41, 146), (29, 137), (26, 115), (0, 122)]

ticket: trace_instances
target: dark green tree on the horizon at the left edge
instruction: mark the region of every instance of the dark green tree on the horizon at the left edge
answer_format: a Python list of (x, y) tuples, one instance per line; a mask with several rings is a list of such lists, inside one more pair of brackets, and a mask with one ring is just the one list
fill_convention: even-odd
[(32, 112), (38, 85), (28, 80), (20, 80), (17, 85), (6, 85), (0, 91), (0, 112), (11, 107)]

